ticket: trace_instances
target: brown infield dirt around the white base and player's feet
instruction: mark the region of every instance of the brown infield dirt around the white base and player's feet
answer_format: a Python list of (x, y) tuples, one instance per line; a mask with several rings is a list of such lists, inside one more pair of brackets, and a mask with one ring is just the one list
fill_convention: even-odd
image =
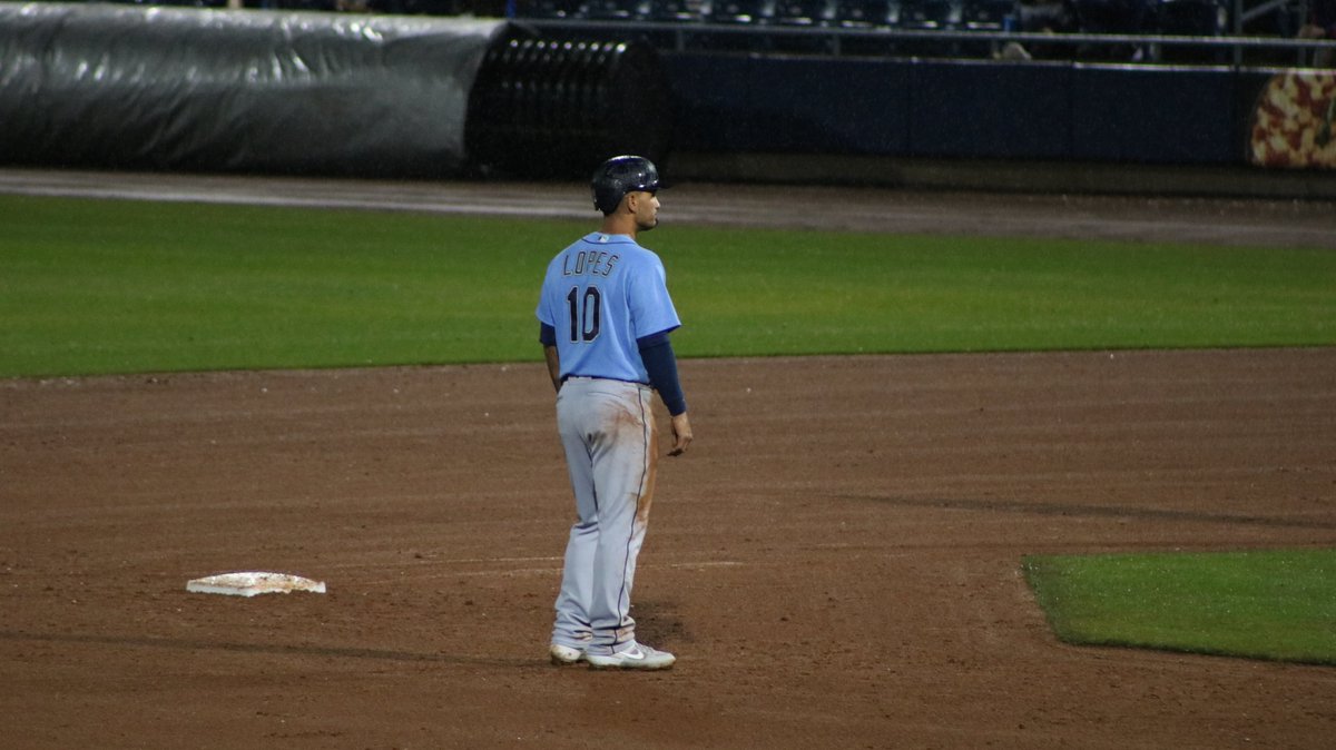
[[(1336, 737), (1336, 670), (1065, 646), (1019, 574), (1336, 543), (1336, 350), (681, 370), (635, 597), (665, 674), (548, 665), (573, 508), (538, 363), (0, 382), (0, 745)], [(329, 593), (182, 586), (219, 570)]]

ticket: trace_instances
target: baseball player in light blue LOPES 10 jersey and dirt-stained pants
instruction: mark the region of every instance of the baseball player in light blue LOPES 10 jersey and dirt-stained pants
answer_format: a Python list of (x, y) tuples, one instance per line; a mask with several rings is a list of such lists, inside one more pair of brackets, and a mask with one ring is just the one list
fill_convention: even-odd
[(687, 400), (668, 334), (681, 326), (659, 256), (636, 243), (659, 223), (659, 171), (617, 156), (593, 175), (600, 231), (548, 266), (538, 339), (557, 388), (557, 430), (577, 520), (566, 543), (549, 655), (607, 669), (668, 669), (676, 658), (636, 641), (631, 587), (655, 491), (653, 392), (691, 444)]

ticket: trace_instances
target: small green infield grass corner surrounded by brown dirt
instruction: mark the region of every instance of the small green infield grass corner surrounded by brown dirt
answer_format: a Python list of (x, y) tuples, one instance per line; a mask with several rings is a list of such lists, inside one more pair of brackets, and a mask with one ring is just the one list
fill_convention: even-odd
[(1026, 556), (1057, 637), (1336, 665), (1336, 550)]

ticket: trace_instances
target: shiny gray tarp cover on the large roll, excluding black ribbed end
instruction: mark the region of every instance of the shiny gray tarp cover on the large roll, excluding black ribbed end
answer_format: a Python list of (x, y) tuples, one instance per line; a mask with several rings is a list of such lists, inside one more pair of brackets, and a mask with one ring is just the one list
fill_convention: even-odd
[(0, 163), (448, 175), (504, 27), (0, 1)]

